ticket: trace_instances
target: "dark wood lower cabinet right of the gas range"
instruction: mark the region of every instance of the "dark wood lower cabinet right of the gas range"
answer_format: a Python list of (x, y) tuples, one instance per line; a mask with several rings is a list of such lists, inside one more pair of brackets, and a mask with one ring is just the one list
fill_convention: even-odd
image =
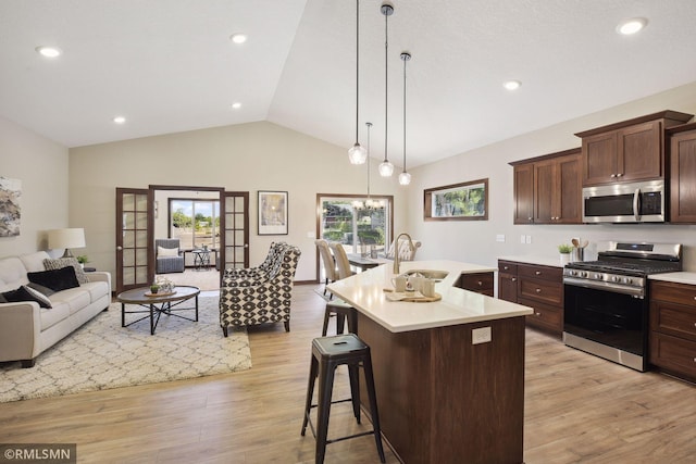
[(696, 286), (650, 283), (650, 364), (696, 381)]

